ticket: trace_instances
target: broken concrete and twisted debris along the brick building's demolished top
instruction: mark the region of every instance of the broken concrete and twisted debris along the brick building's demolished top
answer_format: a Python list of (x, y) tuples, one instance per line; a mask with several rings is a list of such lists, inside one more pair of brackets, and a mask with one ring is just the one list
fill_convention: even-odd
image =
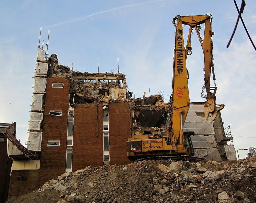
[[(110, 102), (129, 102), (132, 114), (133, 135), (148, 134), (162, 136), (168, 131), (164, 123), (168, 117), (168, 103), (161, 95), (150, 95), (133, 99), (132, 92), (127, 91), (126, 76), (122, 73), (81, 73), (67, 66), (58, 64), (57, 55), (49, 57), (54, 70), (49, 77), (60, 77), (69, 80), (70, 106), (80, 104), (102, 104)], [(144, 95), (145, 96), (145, 95)]]

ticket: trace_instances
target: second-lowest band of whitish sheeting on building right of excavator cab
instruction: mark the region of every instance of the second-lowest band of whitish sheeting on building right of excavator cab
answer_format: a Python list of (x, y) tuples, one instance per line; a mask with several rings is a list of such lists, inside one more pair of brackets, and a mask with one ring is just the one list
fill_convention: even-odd
[(190, 136), (194, 148), (214, 148), (218, 147), (214, 135), (194, 135)]

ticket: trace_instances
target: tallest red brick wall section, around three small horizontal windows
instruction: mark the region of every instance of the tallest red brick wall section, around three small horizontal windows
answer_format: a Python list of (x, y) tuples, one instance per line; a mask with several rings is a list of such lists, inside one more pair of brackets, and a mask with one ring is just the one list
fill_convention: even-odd
[[(52, 88), (52, 83), (64, 83), (63, 88)], [(69, 81), (63, 78), (48, 78), (46, 86), (45, 109), (40, 169), (58, 169), (65, 172), (67, 124), (69, 105)], [(62, 116), (50, 116), (50, 110), (62, 110)], [(49, 140), (60, 140), (59, 147), (48, 147)]]

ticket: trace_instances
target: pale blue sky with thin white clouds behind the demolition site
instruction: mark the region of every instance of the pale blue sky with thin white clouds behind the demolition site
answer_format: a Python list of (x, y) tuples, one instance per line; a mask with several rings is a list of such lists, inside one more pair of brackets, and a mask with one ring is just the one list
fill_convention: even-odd
[[(240, 7), (241, 1), (237, 0)], [(256, 43), (256, 3), (247, 0), (242, 17)], [(137, 1), (1, 1), (0, 3), (0, 122), (17, 123), (17, 138), (28, 138), (30, 103), (40, 27), (41, 45), (50, 29), (49, 54), (74, 70), (126, 74), (135, 98), (143, 92), (161, 93), (169, 101), (172, 84), (176, 15), (213, 15), (213, 56), (217, 103), (224, 127), (231, 125), (236, 149), (256, 147), (253, 126), (255, 108), (255, 51), (239, 23), (233, 41), (226, 45), (235, 26), (237, 11), (232, 0)], [(186, 32), (188, 26), (184, 28)], [(185, 37), (184, 37), (185, 38)], [(204, 102), (203, 52), (196, 34), (188, 56), (191, 102)], [(115, 70), (117, 72), (117, 70)], [(249, 137), (249, 138), (248, 138)], [(250, 138), (251, 137), (251, 138)], [(239, 151), (244, 157), (246, 151)]]

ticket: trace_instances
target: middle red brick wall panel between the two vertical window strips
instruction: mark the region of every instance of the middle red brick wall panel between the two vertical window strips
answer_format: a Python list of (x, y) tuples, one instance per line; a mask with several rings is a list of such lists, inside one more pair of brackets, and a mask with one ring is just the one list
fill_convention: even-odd
[(103, 165), (102, 106), (79, 104), (75, 107), (72, 171)]

